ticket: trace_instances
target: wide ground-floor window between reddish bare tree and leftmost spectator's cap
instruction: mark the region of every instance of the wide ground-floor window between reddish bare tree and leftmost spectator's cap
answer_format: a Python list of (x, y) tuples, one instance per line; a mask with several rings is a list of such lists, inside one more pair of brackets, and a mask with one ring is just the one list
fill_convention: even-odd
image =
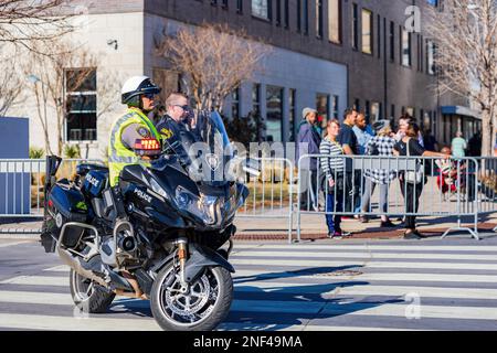
[(283, 88), (266, 86), (266, 139), (283, 141)]

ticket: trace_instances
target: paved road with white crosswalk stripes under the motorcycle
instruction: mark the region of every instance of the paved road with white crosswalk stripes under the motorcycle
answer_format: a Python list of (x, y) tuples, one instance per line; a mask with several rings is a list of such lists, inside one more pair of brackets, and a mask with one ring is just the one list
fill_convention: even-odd
[[(221, 330), (497, 330), (497, 238), (236, 243)], [(68, 270), (0, 240), (0, 330), (158, 330), (148, 301), (81, 318)]]

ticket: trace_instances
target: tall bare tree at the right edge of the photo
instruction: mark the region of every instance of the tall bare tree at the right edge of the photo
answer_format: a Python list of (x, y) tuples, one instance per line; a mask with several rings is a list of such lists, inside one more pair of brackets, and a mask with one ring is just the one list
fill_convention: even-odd
[(468, 98), (482, 111), (482, 154), (491, 156), (497, 128), (497, 1), (444, 0), (427, 11), (442, 93)]

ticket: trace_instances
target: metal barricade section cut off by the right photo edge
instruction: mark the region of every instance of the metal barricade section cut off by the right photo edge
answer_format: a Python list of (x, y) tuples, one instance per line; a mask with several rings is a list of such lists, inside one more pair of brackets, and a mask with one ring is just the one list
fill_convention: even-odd
[[(497, 212), (497, 157), (477, 157), (478, 213), (488, 216)], [(494, 228), (497, 232), (497, 226)]]

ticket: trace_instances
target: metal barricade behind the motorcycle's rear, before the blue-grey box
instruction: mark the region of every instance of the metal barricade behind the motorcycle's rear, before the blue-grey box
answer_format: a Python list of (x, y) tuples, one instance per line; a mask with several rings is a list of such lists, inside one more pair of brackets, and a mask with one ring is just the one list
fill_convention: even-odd
[[(71, 179), (81, 162), (103, 163), (99, 160), (63, 159), (57, 179)], [(45, 159), (0, 159), (0, 223), (7, 218), (43, 216), (45, 172)]]

